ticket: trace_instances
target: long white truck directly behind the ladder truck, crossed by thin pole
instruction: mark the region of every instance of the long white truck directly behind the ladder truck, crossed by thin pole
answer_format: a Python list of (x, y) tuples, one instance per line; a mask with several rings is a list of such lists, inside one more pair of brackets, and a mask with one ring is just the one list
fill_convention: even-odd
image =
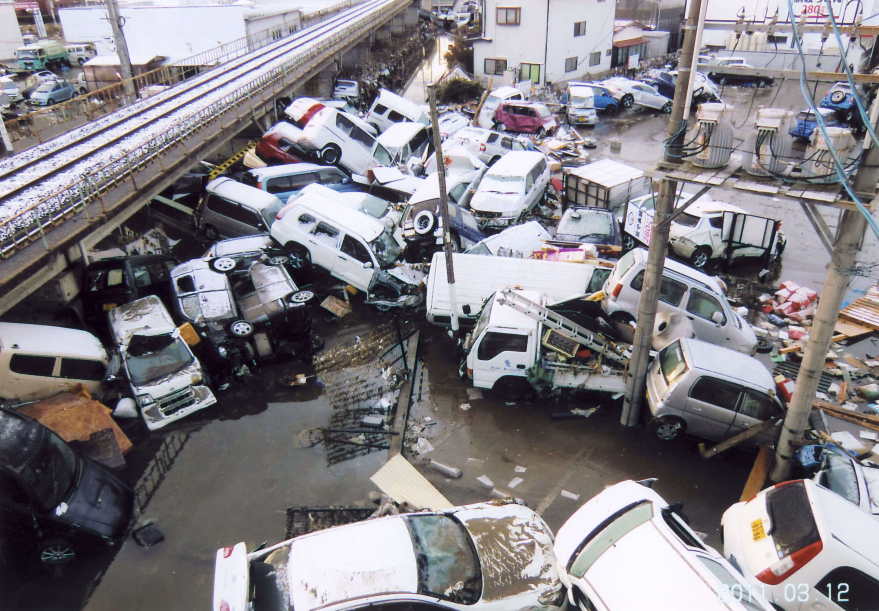
[[(599, 259), (584, 263), (544, 261), (534, 258), (486, 257), (455, 253), (455, 299), (461, 324), (472, 324), (485, 300), (502, 288), (520, 288), (547, 295), (550, 302), (599, 291), (614, 264)], [(427, 276), (427, 321), (440, 326), (451, 324), (446, 256), (433, 255)]]

